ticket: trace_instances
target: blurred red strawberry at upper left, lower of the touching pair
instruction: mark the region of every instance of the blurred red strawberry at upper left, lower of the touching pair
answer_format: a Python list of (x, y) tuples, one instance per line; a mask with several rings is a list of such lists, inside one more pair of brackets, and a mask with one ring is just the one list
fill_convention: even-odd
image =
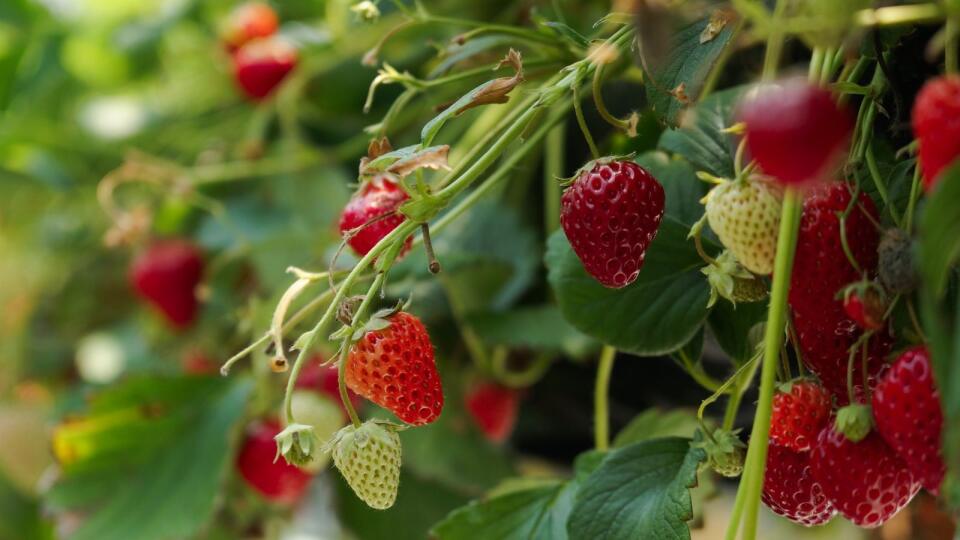
[(272, 94), (296, 65), (297, 49), (275, 37), (255, 39), (233, 55), (234, 78), (254, 101)]

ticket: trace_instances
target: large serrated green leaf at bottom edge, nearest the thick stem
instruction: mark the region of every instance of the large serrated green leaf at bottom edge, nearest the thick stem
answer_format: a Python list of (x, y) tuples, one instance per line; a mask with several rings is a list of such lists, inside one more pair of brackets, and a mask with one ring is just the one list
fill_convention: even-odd
[(706, 458), (688, 439), (655, 439), (612, 450), (577, 494), (571, 540), (682, 540), (693, 517), (689, 489)]

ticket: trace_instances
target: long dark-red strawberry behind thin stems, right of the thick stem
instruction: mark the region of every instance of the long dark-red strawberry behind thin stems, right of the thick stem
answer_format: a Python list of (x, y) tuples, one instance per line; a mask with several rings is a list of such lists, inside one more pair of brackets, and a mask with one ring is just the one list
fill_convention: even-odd
[[(848, 401), (849, 349), (862, 335), (857, 323), (844, 311), (843, 301), (837, 298), (847, 284), (861, 279), (847, 259), (840, 239), (838, 214), (846, 210), (851, 200), (849, 187), (843, 183), (820, 185), (807, 194), (789, 292), (800, 356), (841, 404)], [(846, 219), (845, 229), (853, 258), (872, 275), (877, 268), (880, 238), (871, 217), (877, 219), (876, 206), (861, 193)], [(888, 332), (877, 332), (870, 338), (867, 365), (871, 380), (883, 367), (883, 357), (891, 346)], [(858, 395), (863, 392), (861, 380), (862, 377), (855, 378)]]

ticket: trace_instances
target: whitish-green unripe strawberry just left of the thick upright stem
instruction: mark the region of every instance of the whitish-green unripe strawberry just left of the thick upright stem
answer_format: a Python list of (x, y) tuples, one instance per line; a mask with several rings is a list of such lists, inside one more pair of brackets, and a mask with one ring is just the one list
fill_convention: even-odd
[(781, 198), (780, 189), (759, 175), (724, 181), (706, 196), (710, 228), (754, 274), (773, 272)]

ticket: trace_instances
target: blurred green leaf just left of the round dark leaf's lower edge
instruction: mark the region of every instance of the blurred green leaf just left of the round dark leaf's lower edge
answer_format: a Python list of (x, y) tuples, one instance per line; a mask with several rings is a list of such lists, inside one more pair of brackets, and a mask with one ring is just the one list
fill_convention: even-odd
[(564, 352), (582, 357), (598, 344), (564, 320), (553, 304), (521, 307), (506, 312), (486, 312), (469, 317), (467, 323), (490, 345)]

